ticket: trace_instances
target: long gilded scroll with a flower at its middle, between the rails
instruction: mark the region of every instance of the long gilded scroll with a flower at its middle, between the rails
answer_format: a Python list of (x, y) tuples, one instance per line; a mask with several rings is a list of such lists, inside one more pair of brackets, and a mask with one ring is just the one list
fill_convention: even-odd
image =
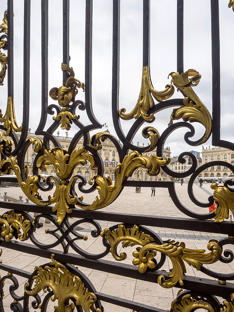
[[(118, 244), (121, 242), (123, 247), (141, 245), (137, 247), (137, 251), (133, 252), (133, 264), (138, 266), (140, 273), (145, 273), (147, 268), (155, 269), (156, 262), (154, 257), (156, 253), (167, 255), (173, 268), (168, 274), (169, 279), (165, 279), (163, 275), (158, 276), (157, 282), (163, 288), (172, 288), (179, 284), (183, 285), (184, 274), (186, 273), (185, 262), (192, 265), (196, 270), (200, 270), (203, 264), (212, 264), (219, 260), (222, 254), (222, 248), (217, 244), (217, 240), (212, 239), (209, 241), (207, 248), (211, 252), (205, 254), (205, 250), (193, 250), (185, 247), (185, 244), (175, 243), (175, 241), (168, 240), (164, 244), (156, 244), (153, 237), (139, 231), (137, 225), (128, 229), (124, 225), (119, 225), (118, 229), (110, 231), (105, 229), (102, 231), (101, 236), (105, 238), (111, 245), (111, 253), (113, 257), (118, 260), (126, 258), (125, 253), (117, 255), (116, 250)], [(153, 253), (152, 253), (153, 251)]]

